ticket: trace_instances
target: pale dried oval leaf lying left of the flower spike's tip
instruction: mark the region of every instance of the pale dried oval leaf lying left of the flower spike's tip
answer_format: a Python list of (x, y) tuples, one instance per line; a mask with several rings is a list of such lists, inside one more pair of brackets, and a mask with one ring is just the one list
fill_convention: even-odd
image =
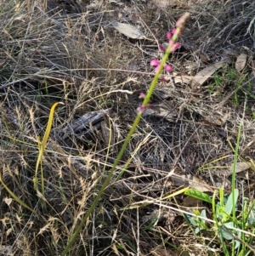
[(140, 31), (138, 28), (136, 28), (135, 26), (126, 24), (126, 23), (120, 23), (117, 21), (114, 21), (112, 23), (112, 26), (119, 31), (120, 33), (122, 33), (123, 35), (125, 35), (126, 37), (129, 38), (133, 38), (133, 39), (145, 39), (145, 35), (142, 31)]

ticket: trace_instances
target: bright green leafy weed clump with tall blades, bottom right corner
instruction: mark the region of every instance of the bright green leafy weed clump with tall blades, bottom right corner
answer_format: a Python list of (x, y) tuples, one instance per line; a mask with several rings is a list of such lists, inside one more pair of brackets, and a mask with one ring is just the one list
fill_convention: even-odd
[[(212, 207), (212, 220), (214, 225), (208, 225), (207, 211), (195, 210), (191, 216), (185, 213), (184, 217), (192, 228), (195, 228), (195, 234), (203, 230), (213, 233), (217, 236), (224, 251), (224, 255), (247, 256), (254, 253), (255, 249), (251, 246), (254, 236), (246, 236), (247, 233), (254, 234), (253, 226), (255, 225), (254, 213), (255, 201), (248, 205), (245, 196), (239, 195), (239, 191), (235, 188), (235, 168), (238, 159), (238, 149), (241, 137), (241, 125), (238, 132), (237, 142), (235, 146), (234, 168), (232, 174), (232, 191), (225, 194), (223, 188), (215, 191), (213, 196), (197, 190), (185, 191), (188, 196), (193, 196), (203, 202), (207, 202)], [(218, 198), (218, 199), (217, 199)], [(237, 208), (238, 200), (241, 199), (241, 210)]]

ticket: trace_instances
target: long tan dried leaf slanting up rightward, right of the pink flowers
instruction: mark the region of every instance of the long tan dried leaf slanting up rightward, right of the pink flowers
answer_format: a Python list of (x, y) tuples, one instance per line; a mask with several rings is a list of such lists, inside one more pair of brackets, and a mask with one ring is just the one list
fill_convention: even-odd
[(200, 86), (202, 85), (204, 82), (207, 81), (208, 78), (210, 78), (212, 76), (212, 74), (217, 71), (219, 68), (221, 68), (221, 66), (224, 63), (230, 63), (231, 59), (230, 58), (226, 58), (224, 60), (220, 60), (217, 63), (214, 63), (212, 65), (208, 65), (206, 68), (204, 68), (203, 70), (199, 71), (195, 77), (193, 77), (192, 81), (191, 81), (191, 88), (195, 88), (197, 85)]

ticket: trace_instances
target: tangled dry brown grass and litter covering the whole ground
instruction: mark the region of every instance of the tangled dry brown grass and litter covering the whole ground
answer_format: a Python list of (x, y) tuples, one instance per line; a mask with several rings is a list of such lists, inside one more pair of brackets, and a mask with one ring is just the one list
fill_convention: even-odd
[[(144, 114), (122, 165), (68, 255), (207, 255), (208, 247), (220, 255), (215, 237), (195, 236), (174, 210), (198, 208), (199, 202), (161, 198), (185, 186), (210, 194), (222, 185), (228, 191), (240, 122), (241, 157), (254, 159), (254, 3), (39, 2), (0, 0), (2, 184), (36, 211), (0, 186), (0, 254), (63, 252), (132, 125), (139, 93), (153, 76), (150, 60), (161, 58), (158, 44), (189, 11), (182, 47), (169, 60), (173, 77), (159, 82), (151, 100), (160, 111)], [(123, 36), (111, 26), (114, 20), (138, 27), (147, 39)], [(235, 60), (241, 53), (247, 60), (238, 72)], [(226, 57), (228, 65), (203, 85), (190, 86), (190, 77)], [(65, 105), (54, 114), (43, 156), (42, 198), (32, 184), (37, 136), (58, 101)], [(102, 110), (109, 111), (96, 125), (88, 124), (87, 132), (71, 131), (79, 117)], [(250, 168), (237, 177), (251, 200), (253, 173)]]

